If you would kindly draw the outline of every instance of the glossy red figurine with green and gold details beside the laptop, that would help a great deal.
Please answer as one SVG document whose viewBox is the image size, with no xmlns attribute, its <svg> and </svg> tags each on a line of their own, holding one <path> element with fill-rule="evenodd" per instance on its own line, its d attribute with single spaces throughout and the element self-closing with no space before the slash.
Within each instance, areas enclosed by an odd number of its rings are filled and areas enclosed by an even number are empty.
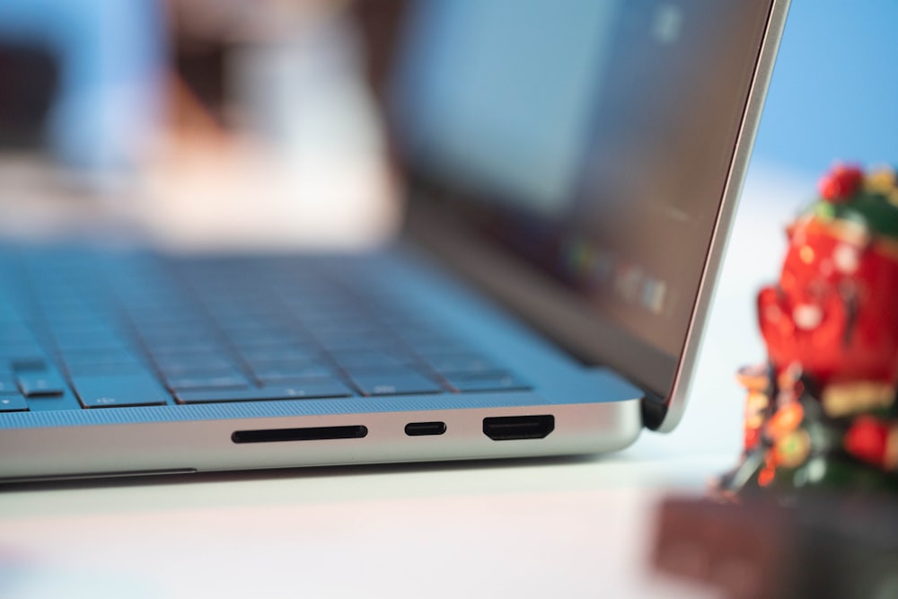
<svg viewBox="0 0 898 599">
<path fill-rule="evenodd" d="M 898 490 L 898 187 L 890 168 L 838 165 L 788 227 L 776 285 L 758 295 L 769 363 L 744 368 L 742 462 L 753 487 Z"/>
</svg>

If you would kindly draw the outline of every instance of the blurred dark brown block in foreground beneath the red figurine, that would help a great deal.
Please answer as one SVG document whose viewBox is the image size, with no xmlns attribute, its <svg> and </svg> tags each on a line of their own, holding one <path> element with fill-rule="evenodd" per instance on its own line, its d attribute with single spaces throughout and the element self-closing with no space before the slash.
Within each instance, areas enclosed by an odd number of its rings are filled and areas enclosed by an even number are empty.
<svg viewBox="0 0 898 599">
<path fill-rule="evenodd" d="M 730 599 L 898 597 L 898 500 L 800 495 L 788 505 L 667 498 L 653 567 Z"/>
</svg>

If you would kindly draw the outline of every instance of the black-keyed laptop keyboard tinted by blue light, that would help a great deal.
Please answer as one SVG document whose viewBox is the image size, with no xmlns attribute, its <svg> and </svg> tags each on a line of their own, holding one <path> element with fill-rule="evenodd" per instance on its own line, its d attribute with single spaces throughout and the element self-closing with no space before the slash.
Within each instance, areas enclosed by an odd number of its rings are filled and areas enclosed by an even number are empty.
<svg viewBox="0 0 898 599">
<path fill-rule="evenodd" d="M 373 260 L 5 259 L 0 411 L 528 388 L 379 282 Z"/>
</svg>

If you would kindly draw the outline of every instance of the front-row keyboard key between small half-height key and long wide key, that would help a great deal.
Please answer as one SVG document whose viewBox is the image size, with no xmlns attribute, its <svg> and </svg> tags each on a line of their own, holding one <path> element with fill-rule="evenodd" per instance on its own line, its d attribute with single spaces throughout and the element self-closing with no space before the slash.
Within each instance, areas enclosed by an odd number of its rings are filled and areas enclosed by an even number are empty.
<svg viewBox="0 0 898 599">
<path fill-rule="evenodd" d="M 75 393 L 85 408 L 153 406 L 171 397 L 150 374 L 74 376 Z"/>
</svg>

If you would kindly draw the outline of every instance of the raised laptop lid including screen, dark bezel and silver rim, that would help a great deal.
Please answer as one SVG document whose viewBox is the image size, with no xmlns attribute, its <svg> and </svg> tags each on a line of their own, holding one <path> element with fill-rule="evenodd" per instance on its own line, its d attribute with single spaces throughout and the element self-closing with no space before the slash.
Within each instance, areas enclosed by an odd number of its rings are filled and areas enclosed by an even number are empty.
<svg viewBox="0 0 898 599">
<path fill-rule="evenodd" d="M 409 234 L 682 416 L 786 3 L 409 10 L 391 112 Z M 462 43 L 463 42 L 463 43 Z"/>
</svg>

